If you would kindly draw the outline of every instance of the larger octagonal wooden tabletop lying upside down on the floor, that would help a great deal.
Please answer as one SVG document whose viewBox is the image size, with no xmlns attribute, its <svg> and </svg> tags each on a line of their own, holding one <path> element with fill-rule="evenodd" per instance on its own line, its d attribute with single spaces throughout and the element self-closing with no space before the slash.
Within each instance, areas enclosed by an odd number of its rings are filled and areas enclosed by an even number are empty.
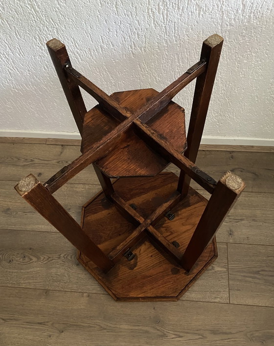
<svg viewBox="0 0 274 346">
<path fill-rule="evenodd" d="M 147 218 L 177 188 L 178 177 L 160 173 L 155 177 L 120 178 L 114 183 L 115 192 L 136 211 Z M 188 195 L 172 212 L 173 220 L 163 217 L 154 228 L 170 242 L 179 243 L 183 253 L 206 207 L 207 200 L 190 188 Z M 109 254 L 126 239 L 137 225 L 129 222 L 106 199 L 101 191 L 82 211 L 82 225 L 91 239 Z M 217 258 L 215 238 L 207 246 L 194 268 L 187 273 L 145 236 L 131 248 L 135 257 L 122 257 L 107 274 L 78 252 L 79 262 L 115 300 L 178 300 Z"/>
</svg>

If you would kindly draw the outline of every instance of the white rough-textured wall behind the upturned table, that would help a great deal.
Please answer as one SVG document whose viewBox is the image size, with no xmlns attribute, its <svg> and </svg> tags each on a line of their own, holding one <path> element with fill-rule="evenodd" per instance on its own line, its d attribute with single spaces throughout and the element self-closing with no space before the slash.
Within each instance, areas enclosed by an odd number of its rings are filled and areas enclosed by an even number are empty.
<svg viewBox="0 0 274 346">
<path fill-rule="evenodd" d="M 77 131 L 46 50 L 53 37 L 111 93 L 160 91 L 218 33 L 225 42 L 204 134 L 274 137 L 273 0 L 1 0 L 0 33 L 0 130 Z M 175 98 L 187 117 L 193 86 Z"/>
</svg>

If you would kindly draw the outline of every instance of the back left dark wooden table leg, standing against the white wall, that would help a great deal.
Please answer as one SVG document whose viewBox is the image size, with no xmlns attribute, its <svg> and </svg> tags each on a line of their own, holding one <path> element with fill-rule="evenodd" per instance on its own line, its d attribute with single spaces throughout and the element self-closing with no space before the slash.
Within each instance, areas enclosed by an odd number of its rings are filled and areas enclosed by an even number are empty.
<svg viewBox="0 0 274 346">
<path fill-rule="evenodd" d="M 71 66 L 66 46 L 59 40 L 52 39 L 46 43 L 49 55 L 60 79 L 62 88 L 68 100 L 71 113 L 74 117 L 80 134 L 83 132 L 83 120 L 87 109 L 78 85 L 67 76 L 64 67 Z"/>
</svg>

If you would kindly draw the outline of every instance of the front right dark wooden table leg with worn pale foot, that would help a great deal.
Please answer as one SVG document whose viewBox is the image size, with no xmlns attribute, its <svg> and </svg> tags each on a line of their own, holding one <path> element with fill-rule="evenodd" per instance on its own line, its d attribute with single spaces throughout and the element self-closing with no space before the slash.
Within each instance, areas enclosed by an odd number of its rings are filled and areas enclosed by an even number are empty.
<svg viewBox="0 0 274 346">
<path fill-rule="evenodd" d="M 229 171 L 219 180 L 183 254 L 185 270 L 190 271 L 194 266 L 244 188 L 241 178 Z"/>
</svg>

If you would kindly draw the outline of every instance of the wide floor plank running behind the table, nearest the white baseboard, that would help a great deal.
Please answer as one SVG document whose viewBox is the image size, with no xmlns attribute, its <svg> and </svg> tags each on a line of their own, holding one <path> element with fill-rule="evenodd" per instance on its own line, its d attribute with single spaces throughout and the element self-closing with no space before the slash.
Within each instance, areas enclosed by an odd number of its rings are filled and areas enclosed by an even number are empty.
<svg viewBox="0 0 274 346">
<path fill-rule="evenodd" d="M 33 173 L 42 182 L 81 154 L 79 146 L 21 143 L 0 143 L 0 152 L 1 180 L 19 181 Z M 274 153 L 200 150 L 196 163 L 216 180 L 228 170 L 238 174 L 247 184 L 245 191 L 274 192 Z M 166 170 L 179 174 L 174 165 Z M 69 183 L 97 184 L 97 178 L 89 166 Z"/>
</svg>

